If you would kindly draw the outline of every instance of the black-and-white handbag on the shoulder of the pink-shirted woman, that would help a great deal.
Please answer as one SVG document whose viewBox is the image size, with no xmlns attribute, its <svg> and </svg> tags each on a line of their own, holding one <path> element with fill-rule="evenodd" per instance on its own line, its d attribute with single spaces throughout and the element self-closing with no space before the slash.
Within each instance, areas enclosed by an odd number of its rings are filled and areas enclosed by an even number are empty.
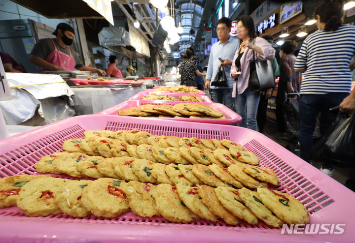
<svg viewBox="0 0 355 243">
<path fill-rule="evenodd" d="M 254 39 L 255 45 L 255 39 Z M 255 51 L 253 51 L 253 61 L 250 61 L 249 87 L 253 92 L 275 88 L 275 77 L 270 60 L 255 60 Z"/>
</svg>

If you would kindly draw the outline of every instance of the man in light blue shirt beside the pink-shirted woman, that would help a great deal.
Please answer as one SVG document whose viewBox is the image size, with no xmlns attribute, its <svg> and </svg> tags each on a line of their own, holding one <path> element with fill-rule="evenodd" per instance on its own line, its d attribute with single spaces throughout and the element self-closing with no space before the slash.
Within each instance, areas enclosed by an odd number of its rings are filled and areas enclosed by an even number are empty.
<svg viewBox="0 0 355 243">
<path fill-rule="evenodd" d="M 235 110 L 234 98 L 232 98 L 234 80 L 230 76 L 230 68 L 232 65 L 231 60 L 233 60 L 234 54 L 239 48 L 239 39 L 229 35 L 231 27 L 232 21 L 226 17 L 222 17 L 217 22 L 217 37 L 219 41 L 214 43 L 211 48 L 205 89 L 210 90 L 213 102 L 224 104 L 228 108 Z M 218 58 L 221 58 L 223 62 L 220 62 Z M 210 87 L 210 82 L 214 80 L 220 64 L 224 66 L 228 87 Z"/>
</svg>

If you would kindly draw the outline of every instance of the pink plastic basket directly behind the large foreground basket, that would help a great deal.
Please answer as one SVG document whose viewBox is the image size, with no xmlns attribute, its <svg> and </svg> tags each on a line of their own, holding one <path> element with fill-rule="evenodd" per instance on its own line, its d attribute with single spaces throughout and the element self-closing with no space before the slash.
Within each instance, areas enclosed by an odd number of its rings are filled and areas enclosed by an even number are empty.
<svg viewBox="0 0 355 243">
<path fill-rule="evenodd" d="M 176 105 L 178 103 L 191 103 L 187 101 L 170 101 L 170 100 L 129 100 L 124 101 L 118 105 L 112 106 L 104 111 L 97 114 L 104 115 L 118 115 L 118 110 L 129 109 L 132 107 L 138 107 L 141 105 Z M 200 102 L 210 106 L 212 109 L 220 111 L 226 119 L 205 119 L 205 118 L 150 118 L 150 119 L 162 119 L 162 120 L 174 120 L 174 121 L 184 121 L 184 122 L 200 122 L 200 123 L 215 123 L 215 124 L 236 124 L 242 122 L 242 117 L 237 113 L 229 109 L 223 104 L 213 103 L 213 102 Z"/>
</svg>

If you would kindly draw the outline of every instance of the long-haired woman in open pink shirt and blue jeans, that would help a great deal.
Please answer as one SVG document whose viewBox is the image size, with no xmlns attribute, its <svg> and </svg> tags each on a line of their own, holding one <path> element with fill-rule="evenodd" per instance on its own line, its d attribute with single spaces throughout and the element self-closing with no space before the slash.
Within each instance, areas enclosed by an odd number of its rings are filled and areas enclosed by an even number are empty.
<svg viewBox="0 0 355 243">
<path fill-rule="evenodd" d="M 232 97 L 235 97 L 236 111 L 242 116 L 240 126 L 256 130 L 256 112 L 260 99 L 260 91 L 252 92 L 249 88 L 250 61 L 271 60 L 275 57 L 275 49 L 269 42 L 256 36 L 254 22 L 248 15 L 242 15 L 237 19 L 238 37 L 240 48 L 235 52 L 231 77 L 235 80 Z M 239 75 L 237 71 L 242 73 Z"/>
</svg>

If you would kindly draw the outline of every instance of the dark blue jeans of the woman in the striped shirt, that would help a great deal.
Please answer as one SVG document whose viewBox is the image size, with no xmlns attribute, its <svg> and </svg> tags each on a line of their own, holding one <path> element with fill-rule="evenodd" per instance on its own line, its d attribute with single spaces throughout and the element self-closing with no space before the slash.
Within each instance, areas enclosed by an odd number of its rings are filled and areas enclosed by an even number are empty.
<svg viewBox="0 0 355 243">
<path fill-rule="evenodd" d="M 300 143 L 301 158 L 310 162 L 310 153 L 313 147 L 313 132 L 318 114 L 320 117 L 320 134 L 324 135 L 336 118 L 337 112 L 329 111 L 338 106 L 349 93 L 301 94 L 299 101 Z"/>
</svg>

